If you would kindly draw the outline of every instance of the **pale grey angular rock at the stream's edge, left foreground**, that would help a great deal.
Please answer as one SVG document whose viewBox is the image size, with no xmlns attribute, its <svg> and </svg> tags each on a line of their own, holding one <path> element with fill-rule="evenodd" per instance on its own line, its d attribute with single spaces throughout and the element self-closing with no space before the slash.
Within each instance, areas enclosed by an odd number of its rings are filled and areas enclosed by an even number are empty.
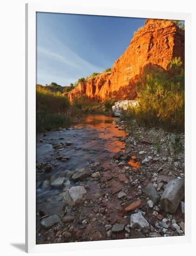
<svg viewBox="0 0 196 256">
<path fill-rule="evenodd" d="M 83 186 L 72 187 L 65 192 L 63 201 L 65 204 L 74 205 L 82 202 L 85 194 L 86 190 Z"/>
</svg>

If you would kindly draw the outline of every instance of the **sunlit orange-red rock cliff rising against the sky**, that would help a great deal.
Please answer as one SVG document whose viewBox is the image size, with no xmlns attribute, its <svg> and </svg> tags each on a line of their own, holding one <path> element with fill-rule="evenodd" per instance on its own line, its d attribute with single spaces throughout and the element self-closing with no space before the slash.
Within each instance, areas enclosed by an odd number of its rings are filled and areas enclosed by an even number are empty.
<svg viewBox="0 0 196 256">
<path fill-rule="evenodd" d="M 90 101 L 104 101 L 110 97 L 133 100 L 144 68 L 150 65 L 166 70 L 174 57 L 181 57 L 184 63 L 184 31 L 170 20 L 146 20 L 124 54 L 115 61 L 111 72 L 79 83 L 68 97 L 70 101 L 82 95 Z"/>
</svg>

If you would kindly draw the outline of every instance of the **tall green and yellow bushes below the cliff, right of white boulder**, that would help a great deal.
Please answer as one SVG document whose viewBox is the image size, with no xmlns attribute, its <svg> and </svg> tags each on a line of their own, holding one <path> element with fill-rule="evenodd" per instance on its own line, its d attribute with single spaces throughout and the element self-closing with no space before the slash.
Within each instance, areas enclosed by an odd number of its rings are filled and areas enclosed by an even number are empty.
<svg viewBox="0 0 196 256">
<path fill-rule="evenodd" d="M 124 112 L 125 120 L 138 125 L 184 131 L 184 69 L 180 58 L 168 63 L 168 71 L 150 67 L 137 85 L 137 106 Z"/>
</svg>

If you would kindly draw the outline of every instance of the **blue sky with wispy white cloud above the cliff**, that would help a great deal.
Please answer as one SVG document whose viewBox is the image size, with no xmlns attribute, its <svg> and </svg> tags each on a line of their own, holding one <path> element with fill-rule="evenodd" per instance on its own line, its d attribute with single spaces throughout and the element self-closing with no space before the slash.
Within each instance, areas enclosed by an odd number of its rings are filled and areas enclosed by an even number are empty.
<svg viewBox="0 0 196 256">
<path fill-rule="evenodd" d="M 37 13 L 37 84 L 62 86 L 112 67 L 146 19 Z"/>
</svg>

